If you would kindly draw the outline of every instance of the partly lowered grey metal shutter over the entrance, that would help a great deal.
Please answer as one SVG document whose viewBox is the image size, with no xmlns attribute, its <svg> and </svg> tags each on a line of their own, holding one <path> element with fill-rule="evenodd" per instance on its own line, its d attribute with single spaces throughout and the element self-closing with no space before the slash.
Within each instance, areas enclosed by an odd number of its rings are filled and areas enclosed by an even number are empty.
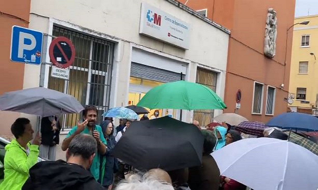
<svg viewBox="0 0 318 190">
<path fill-rule="evenodd" d="M 174 82 L 181 79 L 181 73 L 175 73 L 172 71 L 167 71 L 159 69 L 152 66 L 142 65 L 139 63 L 132 62 L 130 68 L 130 76 L 137 77 L 141 79 L 155 80 L 159 82 Z M 184 80 L 185 74 L 182 74 L 182 79 Z"/>
</svg>

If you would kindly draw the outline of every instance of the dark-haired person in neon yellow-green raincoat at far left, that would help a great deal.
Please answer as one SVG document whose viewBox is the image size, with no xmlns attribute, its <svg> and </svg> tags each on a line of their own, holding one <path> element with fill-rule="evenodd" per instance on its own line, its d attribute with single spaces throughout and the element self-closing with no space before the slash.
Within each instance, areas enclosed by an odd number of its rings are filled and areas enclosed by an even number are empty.
<svg viewBox="0 0 318 190">
<path fill-rule="evenodd" d="M 21 190 L 29 177 L 29 169 L 38 162 L 41 137 L 37 132 L 33 139 L 34 130 L 27 118 L 17 118 L 11 125 L 11 132 L 16 139 L 5 146 L 4 180 L 0 189 Z"/>
</svg>

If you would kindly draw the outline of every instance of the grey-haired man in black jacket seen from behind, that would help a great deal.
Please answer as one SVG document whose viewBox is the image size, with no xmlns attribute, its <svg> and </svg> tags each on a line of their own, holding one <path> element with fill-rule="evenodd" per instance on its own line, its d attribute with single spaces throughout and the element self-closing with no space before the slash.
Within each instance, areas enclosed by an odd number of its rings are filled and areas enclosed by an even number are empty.
<svg viewBox="0 0 318 190">
<path fill-rule="evenodd" d="M 66 162 L 37 163 L 30 169 L 30 177 L 22 190 L 105 190 L 89 172 L 95 152 L 97 143 L 93 136 L 76 135 L 66 150 Z"/>
</svg>

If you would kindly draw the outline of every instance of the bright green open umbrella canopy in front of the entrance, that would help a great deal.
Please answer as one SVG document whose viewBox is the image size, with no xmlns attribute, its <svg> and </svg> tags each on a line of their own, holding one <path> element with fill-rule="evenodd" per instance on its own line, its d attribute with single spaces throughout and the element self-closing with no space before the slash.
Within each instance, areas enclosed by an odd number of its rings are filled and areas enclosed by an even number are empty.
<svg viewBox="0 0 318 190">
<path fill-rule="evenodd" d="M 138 106 L 149 109 L 224 109 L 226 105 L 210 88 L 197 83 L 176 81 L 152 88 Z"/>
</svg>

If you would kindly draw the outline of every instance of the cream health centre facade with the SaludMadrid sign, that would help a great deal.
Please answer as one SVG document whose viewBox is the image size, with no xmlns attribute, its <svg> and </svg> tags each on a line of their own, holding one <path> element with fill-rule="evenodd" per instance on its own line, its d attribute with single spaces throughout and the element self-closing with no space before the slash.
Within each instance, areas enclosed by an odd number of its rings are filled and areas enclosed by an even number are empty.
<svg viewBox="0 0 318 190">
<path fill-rule="evenodd" d="M 44 86 L 71 94 L 82 105 L 95 105 L 99 121 L 109 108 L 136 105 L 152 87 L 181 78 L 207 85 L 224 98 L 230 31 L 177 1 L 32 0 L 29 28 L 45 33 L 46 64 L 24 66 L 23 88 Z M 51 76 L 48 48 L 58 36 L 75 47 L 69 79 Z M 183 111 L 182 118 L 208 124 L 220 113 Z M 160 110 L 160 115 L 179 118 L 180 111 Z M 81 116 L 59 118 L 71 128 Z"/>
</svg>

